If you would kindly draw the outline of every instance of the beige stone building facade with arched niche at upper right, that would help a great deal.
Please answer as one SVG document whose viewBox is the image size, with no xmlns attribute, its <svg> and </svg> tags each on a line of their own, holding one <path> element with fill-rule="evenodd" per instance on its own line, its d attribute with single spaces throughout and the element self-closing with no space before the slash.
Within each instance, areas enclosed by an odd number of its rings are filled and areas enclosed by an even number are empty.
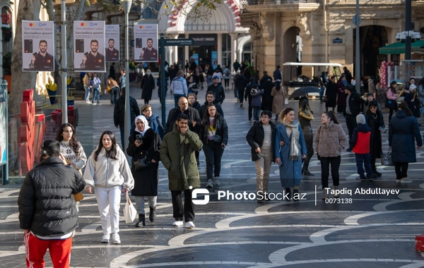
<svg viewBox="0 0 424 268">
<path fill-rule="evenodd" d="M 249 28 L 257 69 L 270 72 L 285 62 L 331 62 L 353 73 L 355 4 L 356 0 L 242 0 L 241 25 Z M 403 54 L 379 54 L 378 49 L 396 42 L 396 33 L 405 29 L 405 9 L 404 0 L 360 0 L 361 76 L 377 75 L 382 61 L 403 59 Z M 424 29 L 423 0 L 412 2 L 412 22 L 413 30 Z M 283 73 L 296 73 L 290 68 L 295 67 L 284 67 Z M 310 72 L 305 69 L 302 74 Z"/>
</svg>

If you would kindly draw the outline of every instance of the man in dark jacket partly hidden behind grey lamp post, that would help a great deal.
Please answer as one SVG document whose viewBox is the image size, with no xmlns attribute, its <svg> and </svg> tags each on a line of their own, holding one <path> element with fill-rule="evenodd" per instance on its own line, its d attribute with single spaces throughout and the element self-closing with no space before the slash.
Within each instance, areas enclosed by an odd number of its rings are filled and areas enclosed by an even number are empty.
<svg viewBox="0 0 424 268">
<path fill-rule="evenodd" d="M 113 121 L 116 128 L 119 127 L 119 131 L 121 132 L 121 142 L 122 142 L 122 150 L 126 150 L 124 145 L 124 140 L 129 137 L 124 137 L 124 123 L 125 123 L 125 87 L 122 87 L 121 97 L 117 99 L 115 102 L 114 110 L 113 110 Z M 136 99 L 129 96 L 129 113 L 131 114 L 131 129 L 130 135 L 136 128 L 134 121 L 136 117 L 140 115 L 139 105 L 137 104 Z"/>
</svg>

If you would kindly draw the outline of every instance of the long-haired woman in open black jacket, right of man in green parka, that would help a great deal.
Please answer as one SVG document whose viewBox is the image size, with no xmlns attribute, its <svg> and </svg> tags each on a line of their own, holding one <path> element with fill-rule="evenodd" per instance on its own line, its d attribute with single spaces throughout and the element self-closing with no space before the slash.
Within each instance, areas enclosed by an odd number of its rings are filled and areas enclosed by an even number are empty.
<svg viewBox="0 0 424 268">
<path fill-rule="evenodd" d="M 201 121 L 200 135 L 206 158 L 206 188 L 220 185 L 220 163 L 228 142 L 228 126 L 225 119 L 216 111 L 215 104 L 208 104 Z M 213 177 L 215 175 L 215 177 Z"/>
</svg>

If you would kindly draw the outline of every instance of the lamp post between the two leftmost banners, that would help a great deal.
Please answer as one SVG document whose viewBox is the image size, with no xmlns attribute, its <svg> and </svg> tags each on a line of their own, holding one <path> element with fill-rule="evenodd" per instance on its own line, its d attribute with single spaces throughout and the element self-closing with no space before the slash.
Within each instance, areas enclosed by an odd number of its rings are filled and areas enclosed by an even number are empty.
<svg viewBox="0 0 424 268">
<path fill-rule="evenodd" d="M 68 123 L 68 90 L 66 80 L 68 74 L 66 73 L 66 0 L 61 0 L 61 43 L 62 43 L 62 123 Z"/>
</svg>

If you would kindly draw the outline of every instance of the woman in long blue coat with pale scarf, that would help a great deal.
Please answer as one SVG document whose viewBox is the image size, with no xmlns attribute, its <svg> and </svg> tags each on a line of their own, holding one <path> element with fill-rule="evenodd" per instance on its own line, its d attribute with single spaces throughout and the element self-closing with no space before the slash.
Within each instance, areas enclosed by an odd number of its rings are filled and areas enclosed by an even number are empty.
<svg viewBox="0 0 424 268">
<path fill-rule="evenodd" d="M 295 111 L 286 108 L 280 114 L 281 125 L 277 127 L 274 152 L 276 163 L 280 166 L 281 186 L 285 188 L 287 200 L 299 200 L 300 177 L 302 176 L 302 159 L 306 158 L 306 144 L 302 127 L 295 121 Z"/>
</svg>

